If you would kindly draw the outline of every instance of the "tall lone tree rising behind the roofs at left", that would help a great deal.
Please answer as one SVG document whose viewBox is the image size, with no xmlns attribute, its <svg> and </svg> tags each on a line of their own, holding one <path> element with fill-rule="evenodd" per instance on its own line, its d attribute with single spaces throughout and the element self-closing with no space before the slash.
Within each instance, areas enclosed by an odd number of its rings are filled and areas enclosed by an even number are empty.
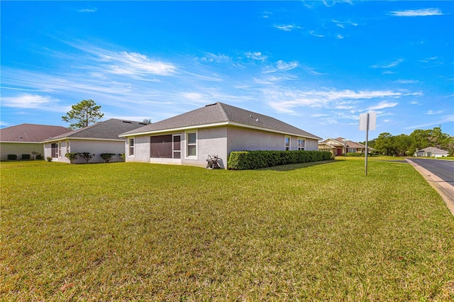
<svg viewBox="0 0 454 302">
<path fill-rule="evenodd" d="M 78 129 L 87 127 L 91 123 L 96 123 L 103 118 L 104 113 L 101 113 L 101 106 L 96 105 L 93 100 L 82 100 L 80 103 L 72 105 L 71 111 L 62 116 L 62 121 L 72 123 L 70 129 Z"/>
</svg>

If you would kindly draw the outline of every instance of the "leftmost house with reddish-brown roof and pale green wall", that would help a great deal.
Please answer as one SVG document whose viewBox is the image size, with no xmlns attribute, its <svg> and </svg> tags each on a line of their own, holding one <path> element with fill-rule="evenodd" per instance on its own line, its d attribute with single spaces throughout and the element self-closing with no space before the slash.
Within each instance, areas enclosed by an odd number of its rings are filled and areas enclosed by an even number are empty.
<svg viewBox="0 0 454 302">
<path fill-rule="evenodd" d="M 33 159 L 38 153 L 43 155 L 43 140 L 68 131 L 62 126 L 28 123 L 0 129 L 0 160 L 7 160 L 10 154 L 18 160 Z"/>
</svg>

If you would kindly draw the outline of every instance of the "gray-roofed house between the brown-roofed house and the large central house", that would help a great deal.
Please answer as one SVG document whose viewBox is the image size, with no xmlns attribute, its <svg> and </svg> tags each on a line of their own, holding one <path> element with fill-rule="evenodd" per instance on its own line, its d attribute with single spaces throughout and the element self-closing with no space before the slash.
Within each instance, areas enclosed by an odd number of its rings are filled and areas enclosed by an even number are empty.
<svg viewBox="0 0 454 302">
<path fill-rule="evenodd" d="M 89 152 L 95 156 L 90 162 L 104 162 L 101 153 L 113 153 L 111 162 L 120 162 L 120 154 L 125 153 L 125 139 L 118 137 L 120 133 L 148 125 L 135 121 L 122 121 L 115 118 L 89 125 L 74 131 L 57 135 L 44 140 L 44 157 L 52 157 L 55 162 L 70 162 L 65 157 L 70 152 Z M 74 163 L 85 162 L 79 157 Z"/>
</svg>

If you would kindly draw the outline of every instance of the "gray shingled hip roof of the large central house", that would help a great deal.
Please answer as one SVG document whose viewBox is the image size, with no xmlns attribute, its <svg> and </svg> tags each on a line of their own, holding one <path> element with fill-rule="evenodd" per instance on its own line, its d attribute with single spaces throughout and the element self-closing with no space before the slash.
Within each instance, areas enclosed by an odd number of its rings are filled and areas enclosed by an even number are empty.
<svg viewBox="0 0 454 302">
<path fill-rule="evenodd" d="M 180 114 L 179 116 L 167 118 L 166 120 L 146 125 L 142 128 L 122 133 L 121 135 L 127 136 L 137 133 L 153 133 L 162 130 L 172 130 L 187 127 L 196 128 L 204 125 L 218 123 L 240 124 L 244 125 L 245 127 L 262 128 L 263 130 L 267 131 L 278 131 L 287 134 L 299 135 L 304 138 L 321 140 L 321 138 L 316 135 L 279 121 L 276 118 L 264 116 L 260 113 L 247 111 L 223 103 L 206 105 L 194 111 L 189 111 L 187 113 Z"/>
</svg>

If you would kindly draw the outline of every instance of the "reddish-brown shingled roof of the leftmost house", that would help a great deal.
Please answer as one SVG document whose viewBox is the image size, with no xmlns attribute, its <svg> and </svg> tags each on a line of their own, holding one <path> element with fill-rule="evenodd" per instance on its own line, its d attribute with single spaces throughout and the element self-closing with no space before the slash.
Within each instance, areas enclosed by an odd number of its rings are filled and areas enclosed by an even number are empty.
<svg viewBox="0 0 454 302">
<path fill-rule="evenodd" d="M 67 133 L 70 129 L 54 125 L 24 123 L 0 129 L 1 142 L 41 142 L 52 136 Z"/>
</svg>

